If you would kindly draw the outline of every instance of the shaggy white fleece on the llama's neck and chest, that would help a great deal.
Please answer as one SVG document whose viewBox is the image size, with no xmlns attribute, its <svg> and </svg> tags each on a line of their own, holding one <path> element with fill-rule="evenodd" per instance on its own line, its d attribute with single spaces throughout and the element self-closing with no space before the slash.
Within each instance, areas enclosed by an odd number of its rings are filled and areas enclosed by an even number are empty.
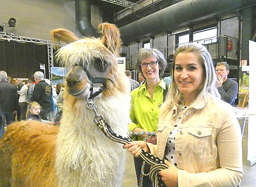
<svg viewBox="0 0 256 187">
<path fill-rule="evenodd" d="M 128 92 L 129 93 L 129 92 Z M 118 93 L 94 103 L 115 133 L 128 136 L 130 96 Z M 120 187 L 124 172 L 125 151 L 109 140 L 94 123 L 94 111 L 85 100 L 75 106 L 64 103 L 63 121 L 57 138 L 56 167 L 59 186 Z"/>
</svg>

